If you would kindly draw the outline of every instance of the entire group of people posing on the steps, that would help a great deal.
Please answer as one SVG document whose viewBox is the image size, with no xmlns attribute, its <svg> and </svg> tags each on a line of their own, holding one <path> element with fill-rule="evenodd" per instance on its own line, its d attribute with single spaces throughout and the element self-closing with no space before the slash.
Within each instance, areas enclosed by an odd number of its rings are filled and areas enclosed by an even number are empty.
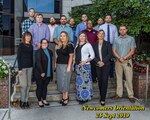
<svg viewBox="0 0 150 120">
<path fill-rule="evenodd" d="M 50 24 L 43 23 L 43 15 L 34 8 L 29 9 L 29 18 L 22 23 L 22 42 L 18 47 L 17 59 L 21 86 L 20 107 L 29 107 L 31 81 L 35 81 L 38 105 L 49 105 L 46 100 L 47 85 L 53 80 L 56 71 L 57 89 L 62 93 L 60 104 L 69 102 L 69 89 L 72 71 L 76 73 L 76 99 L 84 104 L 93 97 L 93 85 L 97 83 L 100 91 L 100 104 L 105 105 L 108 78 L 116 73 L 117 90 L 113 99 L 123 94 L 123 72 L 129 100 L 134 103 L 133 71 L 131 56 L 136 44 L 133 37 L 127 35 L 127 26 L 119 30 L 106 15 L 105 23 L 99 18 L 98 25 L 87 15 L 82 15 L 82 22 L 75 27 L 73 18 L 67 24 L 66 16 L 60 17 L 60 25 L 54 17 Z M 118 31 L 120 35 L 118 36 Z M 116 61 L 114 61 L 116 58 Z"/>
</svg>

